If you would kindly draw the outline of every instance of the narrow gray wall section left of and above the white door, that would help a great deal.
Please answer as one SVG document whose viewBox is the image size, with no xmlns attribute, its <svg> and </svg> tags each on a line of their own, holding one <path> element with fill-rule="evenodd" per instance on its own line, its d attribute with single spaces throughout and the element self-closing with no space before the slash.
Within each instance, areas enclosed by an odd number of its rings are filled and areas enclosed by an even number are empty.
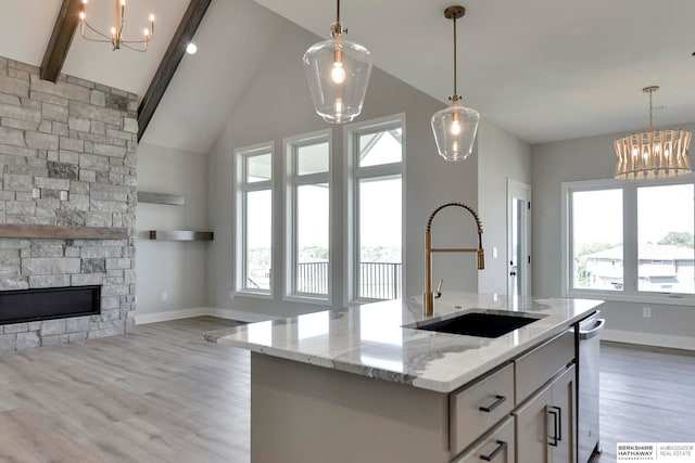
<svg viewBox="0 0 695 463">
<path fill-rule="evenodd" d="M 531 146 L 483 119 L 478 131 L 478 204 L 485 248 L 485 269 L 478 275 L 478 292 L 507 294 L 507 179 L 531 184 Z M 497 258 L 492 257 L 493 247 L 497 248 Z"/>
</svg>

